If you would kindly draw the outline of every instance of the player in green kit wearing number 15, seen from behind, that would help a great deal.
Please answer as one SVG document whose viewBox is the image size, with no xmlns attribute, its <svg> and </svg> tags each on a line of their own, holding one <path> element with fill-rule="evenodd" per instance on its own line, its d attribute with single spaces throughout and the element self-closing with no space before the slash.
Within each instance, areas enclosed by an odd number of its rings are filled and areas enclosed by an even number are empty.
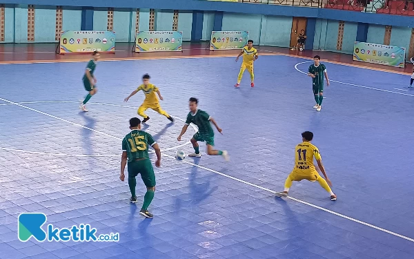
<svg viewBox="0 0 414 259">
<path fill-rule="evenodd" d="M 148 206 L 150 206 L 154 198 L 155 174 L 148 156 L 148 147 L 152 146 L 155 149 L 155 154 L 157 155 L 155 166 L 157 167 L 161 166 L 161 151 L 152 136 L 145 131 L 141 131 L 140 119 L 130 119 L 130 129 L 131 132 L 122 140 L 121 175 L 119 175 L 119 179 L 124 182 L 124 170 L 128 161 L 128 185 L 131 191 L 130 201 L 132 203 L 137 202 L 137 196 L 135 195 L 137 180 L 135 177 L 140 174 L 147 191 L 144 196 L 144 204 L 139 214 L 146 218 L 152 218 L 152 214 L 148 212 Z"/>
</svg>

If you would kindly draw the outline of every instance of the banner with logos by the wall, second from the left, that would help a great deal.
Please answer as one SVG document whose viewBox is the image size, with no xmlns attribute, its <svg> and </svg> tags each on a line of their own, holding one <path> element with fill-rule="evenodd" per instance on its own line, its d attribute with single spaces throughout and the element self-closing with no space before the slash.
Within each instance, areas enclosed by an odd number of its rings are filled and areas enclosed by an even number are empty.
<svg viewBox="0 0 414 259">
<path fill-rule="evenodd" d="M 135 39 L 135 52 L 181 51 L 183 32 L 139 31 Z"/>
</svg>

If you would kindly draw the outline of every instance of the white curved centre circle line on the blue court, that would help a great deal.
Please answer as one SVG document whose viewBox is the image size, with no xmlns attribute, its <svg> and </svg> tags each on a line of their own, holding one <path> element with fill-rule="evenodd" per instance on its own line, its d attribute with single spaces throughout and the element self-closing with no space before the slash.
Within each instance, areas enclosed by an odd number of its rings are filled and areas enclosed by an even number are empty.
<svg viewBox="0 0 414 259">
<path fill-rule="evenodd" d="M 34 102 L 17 102 L 14 105 L 16 105 L 16 104 L 79 104 L 79 102 L 73 102 L 73 101 L 34 101 Z M 116 107 L 137 109 L 137 107 L 128 106 L 128 105 L 121 105 L 121 104 L 104 104 L 104 103 L 100 103 L 100 102 L 90 102 L 89 104 L 97 104 L 97 105 L 102 105 L 102 106 L 116 106 Z M 12 103 L 0 104 L 0 106 L 6 106 L 6 105 L 13 105 L 13 104 Z M 30 108 L 30 107 L 28 107 L 28 108 Z M 41 111 L 39 111 L 39 112 L 41 112 Z M 186 122 L 184 119 L 181 119 L 179 117 L 175 117 L 175 116 L 171 116 L 171 117 L 173 117 L 175 119 L 178 119 L 181 122 Z M 68 122 L 70 122 L 70 121 L 68 121 Z M 70 123 L 71 124 L 74 124 L 73 122 L 70 122 Z M 83 128 L 85 128 L 85 126 L 83 126 L 83 125 L 81 125 L 81 126 Z M 194 126 L 193 124 L 191 124 L 191 127 L 193 128 L 193 130 L 195 131 L 195 133 L 198 132 L 198 128 L 196 126 Z M 90 128 L 87 128 L 87 129 L 88 130 L 91 130 Z M 98 131 L 98 133 L 101 133 L 101 132 Z M 187 146 L 189 144 L 191 144 L 190 141 L 185 142 L 184 144 L 180 144 L 178 146 L 172 146 L 170 148 L 161 149 L 161 152 L 171 151 L 171 150 L 174 150 L 174 149 L 177 149 L 177 148 L 181 148 L 183 146 Z M 115 156 L 120 156 L 121 155 L 121 154 L 117 154 L 117 155 L 115 155 L 115 154 L 113 154 L 113 155 L 86 155 L 86 154 L 71 155 L 71 154 L 64 154 L 64 153 L 44 153 L 44 152 L 37 152 L 37 151 L 25 151 L 25 150 L 14 149 L 14 148 L 4 148 L 4 147 L 1 147 L 1 146 L 0 146 L 0 149 L 5 150 L 5 151 L 12 151 L 12 152 L 30 153 L 30 154 L 34 154 L 34 155 L 55 155 L 55 156 L 67 156 L 67 157 L 112 157 L 112 156 L 115 157 Z M 148 152 L 149 153 L 155 153 L 155 151 L 152 151 L 152 150 L 150 150 Z"/>
</svg>

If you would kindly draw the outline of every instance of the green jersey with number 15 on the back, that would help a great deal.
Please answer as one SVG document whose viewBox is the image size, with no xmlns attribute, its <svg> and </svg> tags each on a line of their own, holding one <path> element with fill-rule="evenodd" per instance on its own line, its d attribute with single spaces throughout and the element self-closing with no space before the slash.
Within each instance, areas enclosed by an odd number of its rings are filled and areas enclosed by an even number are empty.
<svg viewBox="0 0 414 259">
<path fill-rule="evenodd" d="M 122 151 L 125 151 L 128 155 L 128 162 L 133 162 L 139 158 L 149 158 L 148 147 L 155 143 L 157 142 L 150 133 L 132 130 L 122 140 Z"/>
</svg>

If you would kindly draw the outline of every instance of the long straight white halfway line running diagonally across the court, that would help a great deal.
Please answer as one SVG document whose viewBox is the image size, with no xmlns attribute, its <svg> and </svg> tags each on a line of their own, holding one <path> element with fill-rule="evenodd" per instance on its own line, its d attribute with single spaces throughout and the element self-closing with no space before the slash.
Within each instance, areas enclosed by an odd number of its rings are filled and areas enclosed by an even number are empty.
<svg viewBox="0 0 414 259">
<path fill-rule="evenodd" d="M 88 130 L 90 130 L 90 131 L 94 131 L 94 132 L 96 132 L 96 133 L 101 133 L 102 135 L 106 135 L 106 136 L 108 136 L 108 137 L 112 137 L 112 138 L 115 138 L 115 139 L 117 139 L 117 140 L 121 140 L 121 138 L 119 138 L 119 137 L 115 137 L 115 136 L 112 136 L 112 135 L 109 135 L 108 133 L 103 133 L 103 132 L 101 132 L 101 131 L 97 131 L 97 130 L 95 130 L 95 129 L 93 129 L 93 128 L 88 128 L 88 127 L 83 126 L 83 125 L 81 125 L 81 124 L 76 124 L 76 123 L 70 122 L 70 121 L 68 121 L 68 120 L 66 120 L 66 119 L 62 119 L 61 117 L 56 117 L 56 116 L 54 116 L 54 115 L 50 115 L 50 114 L 48 114 L 48 113 L 43 113 L 42 111 L 38 111 L 38 110 L 33 109 L 33 108 L 30 108 L 30 107 L 28 107 L 28 106 L 24 106 L 24 105 L 22 105 L 22 104 L 18 104 L 18 103 L 15 103 L 15 102 L 9 101 L 8 99 L 3 99 L 3 98 L 1 98 L 1 97 L 0 97 L 0 100 L 1 100 L 1 101 L 3 101 L 3 102 L 8 102 L 9 104 L 14 104 L 14 105 L 19 106 L 19 107 L 21 107 L 21 108 L 26 108 L 26 109 L 28 109 L 28 110 L 30 110 L 30 111 L 34 111 L 34 112 L 36 112 L 36 113 L 40 113 L 40 114 L 46 115 L 46 116 L 48 116 L 48 117 L 52 117 L 52 118 L 55 118 L 55 119 L 59 119 L 59 120 L 61 120 L 62 122 L 68 122 L 68 123 L 70 123 L 70 124 L 72 124 L 72 125 L 75 125 L 75 126 L 80 126 L 80 127 L 82 127 L 82 128 L 86 128 L 86 129 L 88 129 Z M 175 157 L 173 157 L 172 155 L 167 155 L 167 154 L 165 154 L 165 153 L 164 153 L 163 155 L 164 155 L 164 156 L 166 156 L 166 157 L 170 157 L 170 158 L 172 158 L 172 159 L 175 159 Z M 242 183 L 244 183 L 244 184 L 248 184 L 248 185 L 250 185 L 250 186 L 256 187 L 257 189 L 262 189 L 263 191 L 268 191 L 268 192 L 273 193 L 273 194 L 277 193 L 276 191 L 273 191 L 273 190 L 270 190 L 270 189 L 264 188 L 264 187 L 259 186 L 259 185 L 257 185 L 257 184 L 252 184 L 251 182 L 246 182 L 246 181 L 241 180 L 241 179 L 239 179 L 239 178 L 235 178 L 235 177 L 233 177 L 233 176 L 226 175 L 225 173 L 221 173 L 221 172 L 219 172 L 219 171 L 215 171 L 215 170 L 213 170 L 213 169 L 209 169 L 209 168 L 207 168 L 207 167 L 200 166 L 200 165 L 198 165 L 198 164 L 194 164 L 194 163 L 192 163 L 192 162 L 188 162 L 188 161 L 186 161 L 186 160 L 182 160 L 181 162 L 184 162 L 184 163 L 186 163 L 186 164 L 190 164 L 191 166 L 197 166 L 199 169 L 204 169 L 204 170 L 209 171 L 209 172 L 211 172 L 211 173 L 216 173 L 217 175 L 221 175 L 221 176 L 224 176 L 224 177 L 226 177 L 226 178 L 230 178 L 230 179 L 235 180 L 235 181 L 237 181 L 237 182 L 242 182 Z M 305 201 L 303 201 L 303 200 L 299 200 L 299 199 L 296 199 L 296 198 L 293 198 L 293 197 L 290 197 L 290 196 L 288 196 L 287 198 L 288 198 L 288 199 L 290 199 L 290 200 L 294 200 L 295 202 L 299 202 L 299 203 L 302 203 L 302 204 L 306 204 L 306 205 L 308 205 L 308 206 L 310 206 L 310 207 L 313 207 L 313 208 L 315 208 L 315 209 L 320 209 L 320 210 L 322 210 L 322 211 L 326 211 L 326 212 L 331 213 L 331 214 L 333 214 L 333 215 L 337 215 L 337 216 L 339 216 L 339 217 L 341 217 L 341 218 L 345 218 L 345 219 L 347 219 L 347 220 L 351 220 L 351 221 L 353 221 L 353 222 L 357 222 L 357 223 L 359 223 L 359 224 L 363 224 L 363 225 L 364 225 L 364 226 L 366 226 L 366 227 L 371 227 L 371 228 L 373 228 L 373 229 L 377 229 L 377 230 L 383 231 L 383 232 L 388 233 L 388 234 L 391 234 L 391 235 L 393 235 L 393 236 L 397 236 L 397 237 L 399 237 L 399 238 L 403 238 L 403 239 L 405 239 L 405 240 L 408 240 L 408 241 L 414 242 L 414 239 L 413 239 L 413 238 L 408 238 L 408 237 L 406 237 L 406 236 L 402 236 L 402 235 L 400 235 L 399 233 L 395 233 L 395 232 L 393 232 L 393 231 L 389 231 L 389 230 L 387 230 L 387 229 L 382 229 L 381 227 L 377 227 L 377 226 L 375 226 L 375 225 L 373 225 L 373 224 L 369 224 L 369 223 L 367 223 L 367 222 L 363 222 L 363 221 L 361 221 L 361 220 L 357 220 L 357 219 L 355 219 L 355 218 L 348 217 L 347 215 L 343 215 L 343 214 L 341 214 L 341 213 L 337 213 L 337 212 L 335 212 L 335 211 L 331 211 L 331 210 L 329 210 L 329 209 L 325 209 L 324 207 L 319 207 L 319 206 L 317 206 L 317 205 L 315 205 L 315 204 L 312 204 L 312 203 L 309 203 L 309 202 L 305 202 Z"/>
</svg>

